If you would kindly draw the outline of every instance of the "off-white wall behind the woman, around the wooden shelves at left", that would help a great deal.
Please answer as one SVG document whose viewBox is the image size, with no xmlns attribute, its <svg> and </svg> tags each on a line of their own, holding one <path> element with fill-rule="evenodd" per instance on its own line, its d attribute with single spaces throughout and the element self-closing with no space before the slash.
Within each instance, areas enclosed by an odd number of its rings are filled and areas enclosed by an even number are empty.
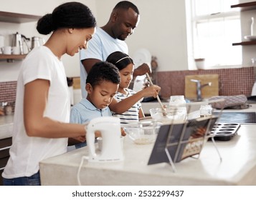
<svg viewBox="0 0 256 200">
<path fill-rule="evenodd" d="M 63 2 L 67 1 L 0 0 L 0 11 L 43 16 L 44 14 L 51 13 L 56 6 L 62 4 Z M 93 14 L 96 15 L 95 0 L 80 0 L 80 2 L 89 6 L 90 9 L 93 11 Z M 15 34 L 16 31 L 19 31 L 19 33 L 24 34 L 29 38 L 31 38 L 32 36 L 40 36 L 44 39 L 47 39 L 48 36 L 40 35 L 37 32 L 36 24 L 37 21 L 23 24 L 5 23 L 0 21 L 0 34 L 6 36 L 6 45 L 11 45 L 11 34 Z M 67 76 L 79 76 L 79 55 L 76 54 L 72 57 L 65 55 L 62 59 L 65 63 Z M 19 66 L 21 62 L 22 61 L 14 61 L 14 63 L 7 63 L 6 60 L 0 60 L 0 82 L 16 81 L 19 74 Z"/>
</svg>

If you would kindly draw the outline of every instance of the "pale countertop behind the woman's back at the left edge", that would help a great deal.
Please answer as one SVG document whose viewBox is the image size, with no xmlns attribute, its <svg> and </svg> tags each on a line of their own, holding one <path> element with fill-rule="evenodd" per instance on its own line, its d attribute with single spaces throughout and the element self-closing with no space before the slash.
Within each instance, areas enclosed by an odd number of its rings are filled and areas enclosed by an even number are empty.
<svg viewBox="0 0 256 200">
<path fill-rule="evenodd" d="M 0 139 L 11 137 L 14 114 L 0 116 Z"/>
</svg>

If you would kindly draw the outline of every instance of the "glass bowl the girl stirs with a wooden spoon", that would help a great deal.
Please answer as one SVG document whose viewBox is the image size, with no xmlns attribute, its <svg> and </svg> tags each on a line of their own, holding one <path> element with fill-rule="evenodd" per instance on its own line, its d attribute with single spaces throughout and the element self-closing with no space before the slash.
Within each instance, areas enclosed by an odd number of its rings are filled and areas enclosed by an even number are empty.
<svg viewBox="0 0 256 200">
<path fill-rule="evenodd" d="M 149 109 L 152 119 L 159 121 L 163 124 L 178 124 L 186 121 L 186 108 L 185 107 L 167 107 L 164 110 L 161 108 Z"/>
</svg>

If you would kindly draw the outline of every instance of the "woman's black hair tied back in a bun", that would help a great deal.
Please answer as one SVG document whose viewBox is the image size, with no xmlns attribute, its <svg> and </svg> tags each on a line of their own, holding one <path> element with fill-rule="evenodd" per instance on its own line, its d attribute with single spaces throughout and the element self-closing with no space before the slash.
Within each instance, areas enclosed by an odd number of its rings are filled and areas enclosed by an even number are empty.
<svg viewBox="0 0 256 200">
<path fill-rule="evenodd" d="M 37 21 L 37 31 L 44 35 L 60 28 L 83 29 L 95 26 L 96 20 L 92 11 L 79 2 L 61 4 L 52 14 L 46 14 Z"/>
</svg>

